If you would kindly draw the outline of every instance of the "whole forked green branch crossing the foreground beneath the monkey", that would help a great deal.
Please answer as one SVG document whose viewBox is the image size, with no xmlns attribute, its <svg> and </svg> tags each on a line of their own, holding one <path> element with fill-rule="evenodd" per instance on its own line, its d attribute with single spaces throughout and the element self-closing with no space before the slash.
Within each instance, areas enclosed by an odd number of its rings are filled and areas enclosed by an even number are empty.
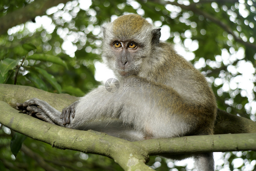
<svg viewBox="0 0 256 171">
<path fill-rule="evenodd" d="M 80 131 L 49 124 L 18 113 L 0 101 L 0 123 L 53 147 L 113 158 L 124 170 L 152 170 L 144 164 L 148 155 L 256 150 L 256 134 L 222 134 L 148 139 L 129 142 L 96 131 Z M 171 144 L 171 145 L 170 145 Z"/>
</svg>

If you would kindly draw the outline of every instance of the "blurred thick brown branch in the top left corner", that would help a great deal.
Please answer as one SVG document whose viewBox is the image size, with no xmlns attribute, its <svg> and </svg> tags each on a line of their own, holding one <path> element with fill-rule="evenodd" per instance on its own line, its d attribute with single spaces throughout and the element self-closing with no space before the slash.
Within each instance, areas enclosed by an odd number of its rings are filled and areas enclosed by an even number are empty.
<svg viewBox="0 0 256 171">
<path fill-rule="evenodd" d="M 7 13 L 0 18 L 0 34 L 4 34 L 13 26 L 25 23 L 34 19 L 36 16 L 42 16 L 50 7 L 57 6 L 60 3 L 66 3 L 70 0 L 36 0 L 13 12 Z"/>
</svg>

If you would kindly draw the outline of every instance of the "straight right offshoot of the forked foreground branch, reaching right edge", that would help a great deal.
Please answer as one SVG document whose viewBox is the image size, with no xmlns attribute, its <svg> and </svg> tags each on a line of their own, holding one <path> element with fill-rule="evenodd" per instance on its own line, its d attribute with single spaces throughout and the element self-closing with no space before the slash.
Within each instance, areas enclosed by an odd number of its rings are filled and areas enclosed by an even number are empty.
<svg viewBox="0 0 256 171">
<path fill-rule="evenodd" d="M 186 136 L 169 139 L 149 139 L 133 142 L 149 151 L 150 156 L 202 152 L 256 151 L 256 134 L 219 134 L 204 136 Z M 231 142 L 231 143 L 230 143 Z"/>
</svg>

